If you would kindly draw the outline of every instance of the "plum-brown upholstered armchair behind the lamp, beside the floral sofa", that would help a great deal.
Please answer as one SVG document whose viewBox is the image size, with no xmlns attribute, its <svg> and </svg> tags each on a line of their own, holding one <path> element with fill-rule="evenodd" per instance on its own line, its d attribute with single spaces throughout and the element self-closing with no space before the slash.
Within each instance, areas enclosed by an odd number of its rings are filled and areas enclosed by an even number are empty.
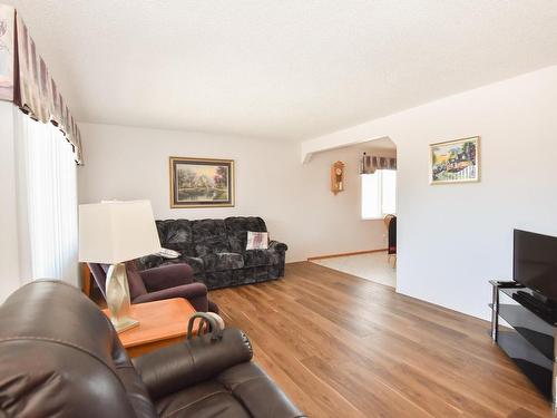
<svg viewBox="0 0 557 418">
<path fill-rule="evenodd" d="M 89 263 L 89 269 L 105 295 L 107 264 Z M 192 269 L 187 264 L 163 265 L 138 271 L 134 262 L 126 263 L 131 303 L 153 302 L 163 299 L 184 298 L 198 312 L 216 312 L 218 307 L 209 301 L 207 288 L 194 281 Z"/>
</svg>

